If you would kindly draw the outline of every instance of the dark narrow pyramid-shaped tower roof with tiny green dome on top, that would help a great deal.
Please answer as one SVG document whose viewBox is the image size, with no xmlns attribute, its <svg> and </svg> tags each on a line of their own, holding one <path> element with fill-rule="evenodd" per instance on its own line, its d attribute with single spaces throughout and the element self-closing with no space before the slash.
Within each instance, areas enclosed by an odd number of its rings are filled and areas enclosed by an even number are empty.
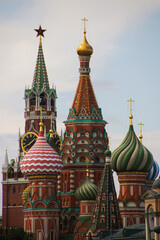
<svg viewBox="0 0 160 240">
<path fill-rule="evenodd" d="M 87 236 L 89 237 L 90 234 L 93 239 L 100 231 L 107 231 L 111 234 L 113 230 L 122 228 L 111 168 L 111 151 L 109 148 L 106 150 L 105 155 L 106 163 L 96 197 L 95 206 L 93 208 L 90 230 L 87 233 Z"/>
</svg>

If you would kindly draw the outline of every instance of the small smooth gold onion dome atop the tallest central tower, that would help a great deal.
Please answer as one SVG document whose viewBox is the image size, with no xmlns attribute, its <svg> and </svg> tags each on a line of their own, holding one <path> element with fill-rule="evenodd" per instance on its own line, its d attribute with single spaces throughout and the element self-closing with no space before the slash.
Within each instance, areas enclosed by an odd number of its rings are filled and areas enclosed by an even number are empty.
<svg viewBox="0 0 160 240">
<path fill-rule="evenodd" d="M 90 56 L 93 53 L 93 48 L 87 42 L 86 32 L 84 32 L 84 38 L 82 43 L 77 48 L 77 53 L 79 56 Z"/>
</svg>

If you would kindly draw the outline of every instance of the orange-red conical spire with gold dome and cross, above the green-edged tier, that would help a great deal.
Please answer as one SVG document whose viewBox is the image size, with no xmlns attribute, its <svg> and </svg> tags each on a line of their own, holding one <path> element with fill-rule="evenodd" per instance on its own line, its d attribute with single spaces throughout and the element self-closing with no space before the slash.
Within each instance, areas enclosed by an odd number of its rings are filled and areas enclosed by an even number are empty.
<svg viewBox="0 0 160 240">
<path fill-rule="evenodd" d="M 86 19 L 82 19 L 84 22 Z M 89 45 L 86 39 L 86 27 L 84 25 L 84 38 L 82 43 L 77 48 L 77 53 L 80 60 L 80 79 L 75 94 L 75 98 L 70 110 L 68 120 L 75 119 L 99 119 L 102 120 L 101 109 L 94 94 L 92 83 L 90 80 L 89 62 L 93 53 L 93 48 Z"/>
</svg>

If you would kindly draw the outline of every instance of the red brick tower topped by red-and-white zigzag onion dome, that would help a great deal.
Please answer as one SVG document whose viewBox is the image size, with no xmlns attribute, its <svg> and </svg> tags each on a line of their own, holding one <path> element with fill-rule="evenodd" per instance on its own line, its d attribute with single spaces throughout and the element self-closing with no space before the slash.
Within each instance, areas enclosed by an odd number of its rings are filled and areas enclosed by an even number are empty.
<svg viewBox="0 0 160 240">
<path fill-rule="evenodd" d="M 59 240 L 61 209 L 56 189 L 63 164 L 44 138 L 42 125 L 36 143 L 21 161 L 21 171 L 29 179 L 23 193 L 24 230 L 33 232 L 36 240 Z"/>
</svg>

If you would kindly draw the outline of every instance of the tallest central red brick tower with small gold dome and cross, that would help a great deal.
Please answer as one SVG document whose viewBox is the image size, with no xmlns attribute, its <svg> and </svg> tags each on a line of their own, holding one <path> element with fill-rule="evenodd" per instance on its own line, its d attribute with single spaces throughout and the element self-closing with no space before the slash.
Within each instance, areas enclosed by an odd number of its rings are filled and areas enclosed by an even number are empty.
<svg viewBox="0 0 160 240">
<path fill-rule="evenodd" d="M 75 190 L 86 178 L 86 159 L 90 160 L 89 177 L 93 183 L 99 185 L 105 163 L 104 152 L 107 148 L 106 122 L 98 107 L 90 80 L 89 62 L 93 49 L 87 42 L 85 27 L 84 38 L 77 48 L 77 53 L 80 60 L 80 78 L 67 121 L 64 122 L 64 168 L 58 180 L 63 230 L 66 232 L 73 231 L 72 219 L 79 215 L 79 201 L 75 197 Z"/>
</svg>

